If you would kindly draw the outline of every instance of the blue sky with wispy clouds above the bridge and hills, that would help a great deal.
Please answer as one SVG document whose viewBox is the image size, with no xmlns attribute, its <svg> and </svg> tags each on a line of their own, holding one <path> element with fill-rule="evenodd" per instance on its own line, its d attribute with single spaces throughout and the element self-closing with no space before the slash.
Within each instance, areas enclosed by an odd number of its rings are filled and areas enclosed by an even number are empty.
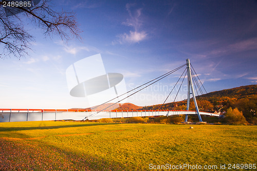
<svg viewBox="0 0 257 171">
<path fill-rule="evenodd" d="M 190 59 L 208 92 L 257 83 L 256 1 L 53 1 L 74 11 L 82 41 L 26 25 L 35 37 L 29 56 L 0 60 L 0 108 L 89 107 L 69 95 L 66 69 L 100 53 L 106 72 L 124 75 L 127 90 Z M 2 46 L 2 45 L 1 45 Z M 161 104 L 183 69 L 127 102 Z M 186 81 L 177 100 L 186 99 Z M 176 88 L 178 89 L 178 88 Z M 167 102 L 173 102 L 173 98 Z"/>
</svg>

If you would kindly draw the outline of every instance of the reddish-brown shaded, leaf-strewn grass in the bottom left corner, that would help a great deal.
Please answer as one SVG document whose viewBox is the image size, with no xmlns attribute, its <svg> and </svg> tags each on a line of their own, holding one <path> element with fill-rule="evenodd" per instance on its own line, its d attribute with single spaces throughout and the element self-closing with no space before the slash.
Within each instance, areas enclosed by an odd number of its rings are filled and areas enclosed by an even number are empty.
<svg viewBox="0 0 257 171">
<path fill-rule="evenodd" d="M 120 163 L 46 143 L 1 140 L 1 170 L 128 170 Z M 26 163 L 24 165 L 24 163 Z"/>
</svg>

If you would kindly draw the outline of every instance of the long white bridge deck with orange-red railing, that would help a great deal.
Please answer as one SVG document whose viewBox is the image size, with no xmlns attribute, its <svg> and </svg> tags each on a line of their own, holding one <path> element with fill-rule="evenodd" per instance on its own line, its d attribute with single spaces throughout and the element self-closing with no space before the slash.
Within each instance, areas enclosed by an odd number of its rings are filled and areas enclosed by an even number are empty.
<svg viewBox="0 0 257 171">
<path fill-rule="evenodd" d="M 2 111 L 2 112 L 1 112 Z M 86 111 L 61 109 L 0 109 L 0 122 L 55 121 L 55 120 L 97 120 L 101 118 L 128 118 L 146 116 L 196 115 L 196 111 L 187 110 L 126 110 L 126 111 Z M 200 115 L 220 117 L 217 114 L 200 111 Z"/>
</svg>

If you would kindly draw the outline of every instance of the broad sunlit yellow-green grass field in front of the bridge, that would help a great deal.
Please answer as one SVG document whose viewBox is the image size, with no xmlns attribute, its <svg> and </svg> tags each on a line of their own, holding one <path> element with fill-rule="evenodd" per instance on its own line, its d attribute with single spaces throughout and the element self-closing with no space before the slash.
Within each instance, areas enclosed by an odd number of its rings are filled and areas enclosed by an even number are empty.
<svg viewBox="0 0 257 171">
<path fill-rule="evenodd" d="M 247 125 L 0 123 L 0 170 L 242 170 L 232 166 L 256 163 L 256 135 Z"/>
</svg>

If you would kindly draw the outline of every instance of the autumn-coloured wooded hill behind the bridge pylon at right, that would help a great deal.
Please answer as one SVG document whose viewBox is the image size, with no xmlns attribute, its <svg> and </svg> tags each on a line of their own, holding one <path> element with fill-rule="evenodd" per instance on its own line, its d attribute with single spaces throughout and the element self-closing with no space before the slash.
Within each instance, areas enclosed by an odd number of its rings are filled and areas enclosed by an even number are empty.
<svg viewBox="0 0 257 171">
<path fill-rule="evenodd" d="M 227 111 L 229 107 L 238 108 L 250 123 L 256 123 L 257 111 L 257 85 L 247 85 L 213 91 L 196 97 L 199 110 L 202 111 Z M 187 101 L 167 103 L 161 106 L 144 106 L 145 110 L 185 110 Z M 189 110 L 195 110 L 193 99 L 190 99 Z"/>
</svg>

